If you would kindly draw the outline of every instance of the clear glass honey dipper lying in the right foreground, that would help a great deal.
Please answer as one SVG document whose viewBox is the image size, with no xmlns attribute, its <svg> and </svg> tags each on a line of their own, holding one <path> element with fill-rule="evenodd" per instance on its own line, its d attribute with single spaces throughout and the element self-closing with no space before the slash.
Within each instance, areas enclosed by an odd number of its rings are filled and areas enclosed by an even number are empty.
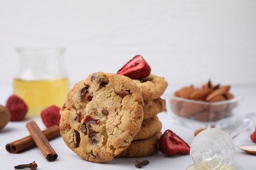
<svg viewBox="0 0 256 170">
<path fill-rule="evenodd" d="M 217 128 L 203 130 L 192 141 L 190 156 L 194 165 L 190 165 L 187 169 L 236 169 L 231 165 L 236 154 L 233 139 L 255 127 L 256 114 L 249 113 L 244 117 L 242 124 L 229 135 Z"/>
</svg>

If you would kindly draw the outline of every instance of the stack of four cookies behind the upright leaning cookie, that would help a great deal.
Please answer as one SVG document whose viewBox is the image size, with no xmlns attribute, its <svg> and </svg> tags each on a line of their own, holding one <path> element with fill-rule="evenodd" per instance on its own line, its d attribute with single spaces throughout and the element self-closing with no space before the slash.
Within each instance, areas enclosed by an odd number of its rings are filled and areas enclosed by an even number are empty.
<svg viewBox="0 0 256 170">
<path fill-rule="evenodd" d="M 116 158 L 136 158 L 155 154 L 161 137 L 161 122 L 157 114 L 165 110 L 165 99 L 161 95 L 167 88 L 167 81 L 160 76 L 150 75 L 134 80 L 144 100 L 144 119 L 130 146 Z"/>
</svg>

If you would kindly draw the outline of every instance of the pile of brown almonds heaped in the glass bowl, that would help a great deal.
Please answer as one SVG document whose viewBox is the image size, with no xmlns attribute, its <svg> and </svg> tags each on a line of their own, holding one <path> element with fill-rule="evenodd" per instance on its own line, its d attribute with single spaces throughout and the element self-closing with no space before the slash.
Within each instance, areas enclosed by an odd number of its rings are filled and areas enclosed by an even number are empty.
<svg viewBox="0 0 256 170">
<path fill-rule="evenodd" d="M 186 86 L 173 94 L 184 99 L 173 97 L 171 108 L 178 116 L 200 122 L 221 120 L 232 116 L 232 110 L 237 105 L 237 102 L 221 102 L 234 98 L 229 90 L 230 86 L 213 85 L 210 80 L 201 88 Z"/>
</svg>

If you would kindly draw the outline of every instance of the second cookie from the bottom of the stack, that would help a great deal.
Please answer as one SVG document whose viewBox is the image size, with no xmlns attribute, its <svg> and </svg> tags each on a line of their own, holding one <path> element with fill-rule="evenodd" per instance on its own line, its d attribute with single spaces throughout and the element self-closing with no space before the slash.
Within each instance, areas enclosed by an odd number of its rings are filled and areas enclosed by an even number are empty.
<svg viewBox="0 0 256 170">
<path fill-rule="evenodd" d="M 161 122 L 158 116 L 143 120 L 140 130 L 135 135 L 133 140 L 147 139 L 154 136 L 158 131 L 161 130 Z"/>
</svg>

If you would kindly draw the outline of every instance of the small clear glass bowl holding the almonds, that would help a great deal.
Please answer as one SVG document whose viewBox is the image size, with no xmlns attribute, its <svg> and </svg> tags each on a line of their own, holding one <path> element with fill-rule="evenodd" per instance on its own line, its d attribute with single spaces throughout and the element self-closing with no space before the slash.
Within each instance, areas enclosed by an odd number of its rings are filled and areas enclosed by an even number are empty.
<svg viewBox="0 0 256 170">
<path fill-rule="evenodd" d="M 184 99 L 170 95 L 167 97 L 167 108 L 171 118 L 182 126 L 198 128 L 224 128 L 236 122 L 240 97 L 233 99 L 206 102 Z"/>
</svg>

